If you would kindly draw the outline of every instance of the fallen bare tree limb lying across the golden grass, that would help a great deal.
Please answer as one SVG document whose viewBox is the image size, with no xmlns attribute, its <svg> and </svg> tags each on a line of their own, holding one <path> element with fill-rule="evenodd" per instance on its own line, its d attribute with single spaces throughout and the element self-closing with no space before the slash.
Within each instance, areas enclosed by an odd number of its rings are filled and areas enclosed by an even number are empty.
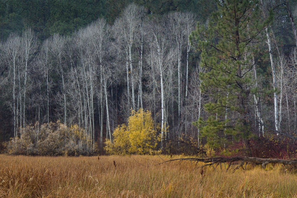
<svg viewBox="0 0 297 198">
<path fill-rule="evenodd" d="M 220 164 L 220 163 L 226 163 L 229 162 L 227 170 L 230 168 L 233 162 L 238 162 L 239 165 L 233 170 L 235 171 L 236 169 L 239 169 L 240 167 L 243 166 L 244 163 L 251 163 L 251 164 L 262 164 L 262 167 L 265 169 L 266 165 L 271 163 L 271 164 L 297 164 L 297 159 L 295 160 L 285 160 L 285 159 L 265 159 L 265 158 L 255 158 L 255 157 L 243 157 L 243 156 L 236 156 L 236 157 L 230 157 L 230 158 L 225 158 L 225 157 L 213 157 L 213 158 L 178 158 L 178 159 L 170 159 L 168 161 L 164 161 L 160 164 L 164 164 L 170 161 L 194 161 L 196 164 L 198 162 L 204 162 L 202 167 L 204 166 L 211 166 L 214 164 Z"/>
</svg>

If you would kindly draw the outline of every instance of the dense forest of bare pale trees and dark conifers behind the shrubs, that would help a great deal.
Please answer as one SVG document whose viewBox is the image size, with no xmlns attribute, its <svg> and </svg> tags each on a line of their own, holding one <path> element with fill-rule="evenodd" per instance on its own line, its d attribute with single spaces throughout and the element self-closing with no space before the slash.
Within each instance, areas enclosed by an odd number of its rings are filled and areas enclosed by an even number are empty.
<svg viewBox="0 0 297 198">
<path fill-rule="evenodd" d="M 205 143 L 253 155 L 271 142 L 294 150 L 294 3 L 1 0 L 0 142 L 59 120 L 102 149 L 141 108 L 165 152 L 195 154 Z M 244 10 L 234 12 L 240 41 L 223 25 L 230 5 Z M 226 69 L 232 60 L 240 70 Z"/>
</svg>

